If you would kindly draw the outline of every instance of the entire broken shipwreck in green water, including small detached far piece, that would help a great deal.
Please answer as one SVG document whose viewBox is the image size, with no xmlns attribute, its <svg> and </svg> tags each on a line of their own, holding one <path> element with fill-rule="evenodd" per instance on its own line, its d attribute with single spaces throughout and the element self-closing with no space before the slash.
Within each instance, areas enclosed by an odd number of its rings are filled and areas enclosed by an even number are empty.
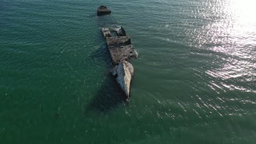
<svg viewBox="0 0 256 144">
<path fill-rule="evenodd" d="M 101 5 L 97 10 L 106 11 L 106 6 Z M 106 12 L 101 15 L 110 14 Z M 100 15 L 98 15 L 100 16 Z M 126 35 L 125 29 L 121 26 L 109 26 L 101 27 L 103 37 L 106 39 L 106 44 L 114 64 L 114 68 L 111 71 L 115 80 L 118 82 L 120 88 L 126 95 L 127 100 L 130 98 L 130 85 L 134 74 L 134 69 L 131 63 L 127 62 L 131 57 L 137 57 L 138 54 L 135 51 L 135 47 L 131 44 L 131 38 Z"/>
</svg>

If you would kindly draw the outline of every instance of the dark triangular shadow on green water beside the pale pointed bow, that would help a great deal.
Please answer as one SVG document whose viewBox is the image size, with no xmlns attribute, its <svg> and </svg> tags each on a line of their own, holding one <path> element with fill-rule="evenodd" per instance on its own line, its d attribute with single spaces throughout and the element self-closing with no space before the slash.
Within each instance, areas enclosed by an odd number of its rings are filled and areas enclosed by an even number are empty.
<svg viewBox="0 0 256 144">
<path fill-rule="evenodd" d="M 127 104 L 125 94 L 115 82 L 114 77 L 109 74 L 101 85 L 100 90 L 86 107 L 86 112 L 108 112 L 120 104 Z"/>
</svg>

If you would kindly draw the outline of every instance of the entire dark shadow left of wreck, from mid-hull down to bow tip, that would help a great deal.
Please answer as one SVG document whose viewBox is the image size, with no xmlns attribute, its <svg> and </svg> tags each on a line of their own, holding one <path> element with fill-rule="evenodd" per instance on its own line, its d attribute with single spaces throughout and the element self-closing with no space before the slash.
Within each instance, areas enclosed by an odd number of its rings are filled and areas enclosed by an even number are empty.
<svg viewBox="0 0 256 144">
<path fill-rule="evenodd" d="M 110 53 L 106 45 L 101 45 L 99 49 L 91 53 L 90 58 L 92 61 L 95 61 L 95 63 L 105 63 L 107 69 L 100 89 L 97 91 L 94 98 L 92 98 L 89 105 L 85 107 L 84 113 L 89 111 L 108 112 L 120 104 L 126 105 L 126 96 L 124 92 L 121 91 L 114 76 L 110 73 L 110 70 L 114 66 L 112 65 Z"/>
</svg>

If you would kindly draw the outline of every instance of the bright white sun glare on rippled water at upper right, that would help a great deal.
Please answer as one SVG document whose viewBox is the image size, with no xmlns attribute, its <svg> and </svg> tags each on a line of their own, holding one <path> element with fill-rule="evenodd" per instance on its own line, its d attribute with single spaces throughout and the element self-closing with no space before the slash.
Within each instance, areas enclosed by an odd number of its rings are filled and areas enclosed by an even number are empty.
<svg viewBox="0 0 256 144">
<path fill-rule="evenodd" d="M 217 59 L 212 63 L 222 61 L 206 73 L 221 79 L 220 87 L 256 93 L 255 88 L 247 85 L 253 83 L 256 75 L 256 0 L 202 3 L 206 3 L 202 15 L 211 20 L 189 33 L 193 35 L 191 41 L 197 49 L 214 52 Z"/>
</svg>

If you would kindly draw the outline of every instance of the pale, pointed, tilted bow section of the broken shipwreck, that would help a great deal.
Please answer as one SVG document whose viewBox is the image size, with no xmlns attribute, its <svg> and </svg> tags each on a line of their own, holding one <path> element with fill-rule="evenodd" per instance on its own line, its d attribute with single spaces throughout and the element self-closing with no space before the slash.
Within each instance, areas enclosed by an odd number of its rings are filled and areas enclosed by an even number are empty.
<svg viewBox="0 0 256 144">
<path fill-rule="evenodd" d="M 123 89 L 127 99 L 130 97 L 130 85 L 134 69 L 132 64 L 127 61 L 121 62 L 112 70 L 115 80 L 118 82 L 121 89 Z"/>
</svg>

